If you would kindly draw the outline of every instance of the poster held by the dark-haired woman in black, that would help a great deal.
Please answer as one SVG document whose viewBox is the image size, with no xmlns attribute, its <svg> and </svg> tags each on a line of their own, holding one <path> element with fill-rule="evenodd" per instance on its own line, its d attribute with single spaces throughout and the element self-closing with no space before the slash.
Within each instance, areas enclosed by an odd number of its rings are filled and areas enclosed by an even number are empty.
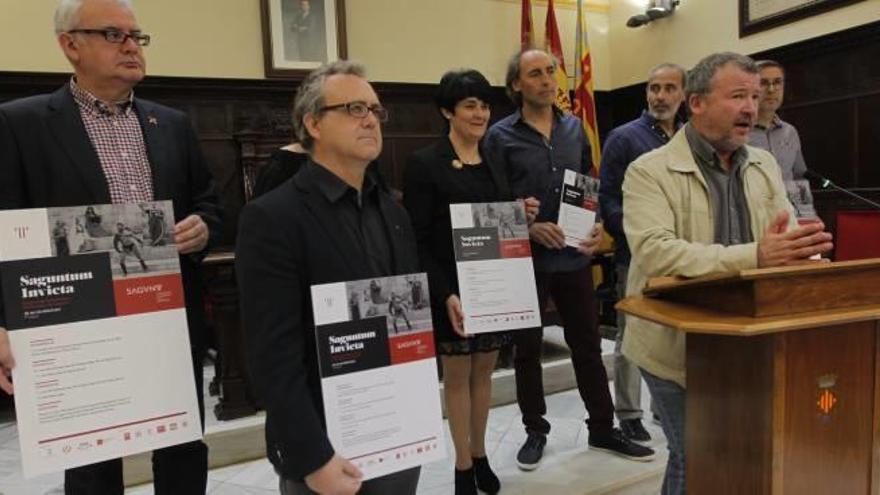
<svg viewBox="0 0 880 495">
<path fill-rule="evenodd" d="M 449 212 L 465 332 L 540 326 L 525 205 L 463 203 Z"/>
</svg>

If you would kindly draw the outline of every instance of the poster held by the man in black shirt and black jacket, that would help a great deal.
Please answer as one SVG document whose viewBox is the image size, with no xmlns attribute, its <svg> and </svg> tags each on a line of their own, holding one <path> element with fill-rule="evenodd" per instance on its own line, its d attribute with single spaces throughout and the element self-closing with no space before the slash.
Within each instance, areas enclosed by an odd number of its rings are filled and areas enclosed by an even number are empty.
<svg viewBox="0 0 880 495">
<path fill-rule="evenodd" d="M 333 448 L 372 479 L 446 457 L 424 273 L 312 286 Z"/>
</svg>

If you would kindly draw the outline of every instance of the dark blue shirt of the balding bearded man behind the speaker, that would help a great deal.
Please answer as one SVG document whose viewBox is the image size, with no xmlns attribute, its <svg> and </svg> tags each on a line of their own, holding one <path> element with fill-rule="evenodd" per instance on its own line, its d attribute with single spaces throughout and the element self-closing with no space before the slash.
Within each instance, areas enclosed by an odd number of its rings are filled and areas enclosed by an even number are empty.
<svg viewBox="0 0 880 495">
<path fill-rule="evenodd" d="M 675 128 L 681 127 L 676 122 Z M 636 158 L 669 142 L 660 122 L 647 111 L 642 116 L 615 128 L 602 146 L 602 166 L 599 168 L 599 211 L 605 230 L 614 237 L 614 260 L 618 265 L 629 265 L 630 252 L 623 233 L 623 177 Z"/>
</svg>

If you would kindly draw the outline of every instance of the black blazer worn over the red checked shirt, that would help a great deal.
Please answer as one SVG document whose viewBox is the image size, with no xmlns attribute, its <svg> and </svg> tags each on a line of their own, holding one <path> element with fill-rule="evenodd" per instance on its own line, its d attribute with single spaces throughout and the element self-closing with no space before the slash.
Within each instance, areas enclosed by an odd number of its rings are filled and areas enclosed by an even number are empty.
<svg viewBox="0 0 880 495">
<path fill-rule="evenodd" d="M 210 229 L 210 245 L 220 235 L 220 208 L 189 118 L 139 98 L 134 107 L 153 174 L 154 199 L 174 202 L 175 221 L 201 216 Z M 68 86 L 0 105 L 0 209 L 110 202 L 98 154 Z M 198 253 L 180 260 L 190 342 L 196 349 L 204 345 L 204 308 L 196 273 L 203 257 Z"/>
</svg>

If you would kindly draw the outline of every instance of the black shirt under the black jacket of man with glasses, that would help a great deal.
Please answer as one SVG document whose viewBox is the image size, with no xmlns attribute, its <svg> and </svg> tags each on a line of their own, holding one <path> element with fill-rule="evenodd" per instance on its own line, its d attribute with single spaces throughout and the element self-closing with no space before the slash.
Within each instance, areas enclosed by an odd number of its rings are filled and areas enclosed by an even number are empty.
<svg viewBox="0 0 880 495">
<path fill-rule="evenodd" d="M 320 169 L 315 174 L 318 189 L 337 209 L 338 227 L 348 230 L 351 237 L 357 239 L 357 248 L 364 255 L 363 262 L 377 276 L 391 276 L 391 246 L 379 209 L 380 187 L 373 174 L 364 174 L 364 183 L 359 192 L 317 163 L 310 162 L 306 166 Z"/>
</svg>

